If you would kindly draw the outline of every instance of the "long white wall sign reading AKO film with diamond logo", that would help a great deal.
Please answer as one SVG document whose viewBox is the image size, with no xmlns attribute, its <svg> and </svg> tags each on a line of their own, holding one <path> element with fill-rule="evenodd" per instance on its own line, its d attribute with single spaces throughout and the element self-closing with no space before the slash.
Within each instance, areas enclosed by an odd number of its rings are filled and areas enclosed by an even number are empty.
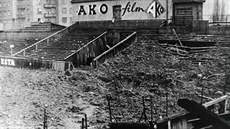
<svg viewBox="0 0 230 129">
<path fill-rule="evenodd" d="M 116 17 L 120 20 L 166 18 L 166 0 L 98 1 L 73 3 L 72 6 L 74 21 L 113 20 Z"/>
</svg>

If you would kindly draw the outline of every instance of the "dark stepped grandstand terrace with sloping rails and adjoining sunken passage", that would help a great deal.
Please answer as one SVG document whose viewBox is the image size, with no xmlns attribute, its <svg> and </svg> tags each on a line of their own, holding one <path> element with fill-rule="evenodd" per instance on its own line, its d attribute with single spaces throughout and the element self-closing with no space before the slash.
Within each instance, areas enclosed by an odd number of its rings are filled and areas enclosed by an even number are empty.
<svg viewBox="0 0 230 129">
<path fill-rule="evenodd" d="M 130 30 L 84 29 L 81 28 L 81 24 L 75 23 L 57 31 L 19 50 L 13 56 L 31 60 L 35 62 L 34 65 L 36 65 L 37 61 L 48 61 L 49 65 L 53 63 L 58 65 L 55 65 L 55 67 L 59 67 L 59 65 L 64 67 L 65 62 L 71 62 L 74 67 L 79 67 L 81 65 L 90 65 L 94 58 L 100 56 L 115 44 L 125 44 L 126 42 L 129 44 L 131 43 L 129 38 L 135 39 L 134 35 L 129 36 L 131 34 Z M 119 48 L 116 52 L 122 50 L 123 48 Z M 100 61 L 100 63 L 102 62 Z"/>
</svg>

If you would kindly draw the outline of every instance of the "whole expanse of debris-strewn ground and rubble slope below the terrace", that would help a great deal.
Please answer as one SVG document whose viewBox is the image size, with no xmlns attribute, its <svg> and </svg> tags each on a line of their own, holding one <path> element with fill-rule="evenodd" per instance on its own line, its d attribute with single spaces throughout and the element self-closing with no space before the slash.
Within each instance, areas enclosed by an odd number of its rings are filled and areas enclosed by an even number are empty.
<svg viewBox="0 0 230 129">
<path fill-rule="evenodd" d="M 0 66 L 0 129 L 42 129 L 44 109 L 49 129 L 80 128 L 84 114 L 89 128 L 108 128 L 108 96 L 119 122 L 139 121 L 143 96 L 148 119 L 152 98 L 154 121 L 183 110 L 177 105 L 179 98 L 200 102 L 202 87 L 206 98 L 222 96 L 229 48 L 189 56 L 212 60 L 199 66 L 153 40 L 138 39 L 94 70 L 82 67 L 63 73 Z"/>
</svg>

